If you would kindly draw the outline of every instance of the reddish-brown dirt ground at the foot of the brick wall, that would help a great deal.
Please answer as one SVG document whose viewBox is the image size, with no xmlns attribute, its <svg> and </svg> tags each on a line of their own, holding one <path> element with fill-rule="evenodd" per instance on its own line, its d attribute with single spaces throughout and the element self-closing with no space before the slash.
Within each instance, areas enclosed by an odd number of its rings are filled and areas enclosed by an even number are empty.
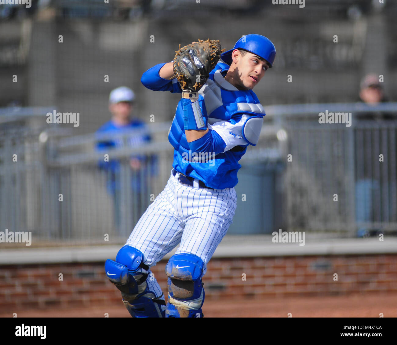
<svg viewBox="0 0 397 345">
<path fill-rule="evenodd" d="M 205 317 L 397 317 L 397 294 L 350 295 L 335 297 L 301 297 L 289 299 L 261 299 L 244 301 L 208 301 L 204 304 Z M 129 317 L 120 301 L 117 306 L 88 307 L 65 310 L 27 310 L 18 317 Z M 12 317 L 12 313 L 0 314 Z"/>
</svg>

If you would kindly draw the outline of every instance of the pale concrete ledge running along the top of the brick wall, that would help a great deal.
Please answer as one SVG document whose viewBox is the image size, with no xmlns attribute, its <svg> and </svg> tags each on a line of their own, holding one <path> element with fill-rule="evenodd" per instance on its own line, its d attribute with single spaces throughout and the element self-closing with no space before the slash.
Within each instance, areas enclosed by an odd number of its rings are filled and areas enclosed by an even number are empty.
<svg viewBox="0 0 397 345">
<path fill-rule="evenodd" d="M 91 247 L 23 248 L 0 251 L 0 265 L 59 264 L 66 262 L 100 262 L 114 259 L 122 245 Z M 164 256 L 170 258 L 175 250 Z M 270 236 L 227 236 L 216 249 L 213 258 L 358 255 L 397 253 L 397 238 L 316 239 L 299 243 L 272 243 Z"/>
</svg>

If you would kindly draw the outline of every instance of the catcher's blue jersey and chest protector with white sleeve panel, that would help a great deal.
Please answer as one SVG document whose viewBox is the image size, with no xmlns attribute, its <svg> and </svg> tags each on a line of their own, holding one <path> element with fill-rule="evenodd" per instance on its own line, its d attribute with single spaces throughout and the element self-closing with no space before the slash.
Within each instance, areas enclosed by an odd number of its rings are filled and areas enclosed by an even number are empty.
<svg viewBox="0 0 397 345">
<path fill-rule="evenodd" d="M 159 71 L 163 66 L 158 64 L 148 69 L 141 82 L 150 90 L 181 93 L 176 79 L 170 81 L 160 77 Z M 228 69 L 229 65 L 218 62 L 199 91 L 199 104 L 203 117 L 207 119 L 209 134 L 187 142 L 180 101 L 168 135 L 174 147 L 173 168 L 214 189 L 237 185 L 237 171 L 241 168 L 239 160 L 247 146 L 256 145 L 245 136 L 245 124 L 250 118 L 261 118 L 263 122 L 265 116 L 252 90 L 238 90 L 224 79 Z"/>
</svg>

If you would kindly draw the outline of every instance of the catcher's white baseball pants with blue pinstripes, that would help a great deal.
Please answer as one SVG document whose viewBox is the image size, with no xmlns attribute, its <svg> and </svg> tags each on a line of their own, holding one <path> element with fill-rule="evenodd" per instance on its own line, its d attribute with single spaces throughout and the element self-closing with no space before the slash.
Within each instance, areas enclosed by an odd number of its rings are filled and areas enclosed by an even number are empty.
<svg viewBox="0 0 397 345">
<path fill-rule="evenodd" d="M 175 252 L 195 254 L 207 262 L 232 223 L 237 196 L 234 188 L 193 188 L 171 174 L 167 185 L 139 219 L 125 245 L 139 249 L 144 263 L 154 266 L 180 243 Z M 152 272 L 148 287 L 162 295 Z M 164 298 L 164 297 L 163 297 Z"/>
</svg>

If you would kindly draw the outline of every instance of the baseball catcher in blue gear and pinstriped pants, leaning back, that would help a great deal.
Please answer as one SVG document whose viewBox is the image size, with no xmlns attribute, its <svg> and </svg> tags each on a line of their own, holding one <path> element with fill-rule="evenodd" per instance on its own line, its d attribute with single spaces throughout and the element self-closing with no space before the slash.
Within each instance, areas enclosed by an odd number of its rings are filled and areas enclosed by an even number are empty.
<svg viewBox="0 0 397 345">
<path fill-rule="evenodd" d="M 258 142 L 265 116 L 252 89 L 275 56 L 273 43 L 261 35 L 243 36 L 223 53 L 219 41 L 198 40 L 179 46 L 173 62 L 143 73 L 146 88 L 182 97 L 168 134 L 170 179 L 116 260 L 105 263 L 131 316 L 203 316 L 202 276 L 233 220 L 239 160 Z M 178 244 L 166 265 L 166 303 L 150 267 Z"/>
</svg>

